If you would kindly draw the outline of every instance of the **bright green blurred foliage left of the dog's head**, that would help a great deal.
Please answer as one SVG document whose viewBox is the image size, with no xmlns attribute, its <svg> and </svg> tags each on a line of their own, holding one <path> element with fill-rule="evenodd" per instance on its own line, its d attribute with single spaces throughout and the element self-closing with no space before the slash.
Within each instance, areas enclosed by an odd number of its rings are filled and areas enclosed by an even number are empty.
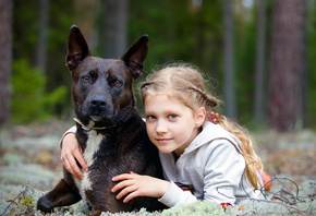
<svg viewBox="0 0 316 216">
<path fill-rule="evenodd" d="M 65 99 L 66 87 L 60 86 L 51 93 L 45 91 L 46 76 L 26 60 L 13 63 L 11 120 L 13 123 L 29 123 L 47 120 L 54 106 Z"/>
</svg>

